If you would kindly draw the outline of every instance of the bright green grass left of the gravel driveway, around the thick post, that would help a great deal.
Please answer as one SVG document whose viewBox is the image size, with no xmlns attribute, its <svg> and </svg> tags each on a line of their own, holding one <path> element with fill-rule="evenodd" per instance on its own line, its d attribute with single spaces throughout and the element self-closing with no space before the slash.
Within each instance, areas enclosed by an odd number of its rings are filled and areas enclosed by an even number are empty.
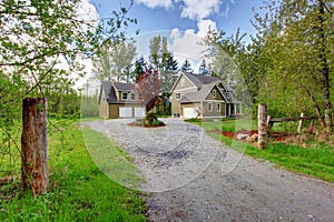
<svg viewBox="0 0 334 222">
<path fill-rule="evenodd" d="M 112 182 L 100 171 L 87 151 L 78 122 L 53 123 L 59 129 L 49 125 L 50 191 L 33 199 L 30 194 L 19 195 L 14 190 L 19 181 L 0 186 L 1 194 L 14 196 L 0 200 L 0 221 L 147 221 L 145 194 Z M 118 159 L 128 159 L 100 133 L 84 130 L 90 150 L 112 150 L 110 153 L 117 153 Z M 104 147 L 94 143 L 97 140 Z M 130 161 L 126 167 L 116 161 L 112 167 L 140 181 Z"/>
</svg>

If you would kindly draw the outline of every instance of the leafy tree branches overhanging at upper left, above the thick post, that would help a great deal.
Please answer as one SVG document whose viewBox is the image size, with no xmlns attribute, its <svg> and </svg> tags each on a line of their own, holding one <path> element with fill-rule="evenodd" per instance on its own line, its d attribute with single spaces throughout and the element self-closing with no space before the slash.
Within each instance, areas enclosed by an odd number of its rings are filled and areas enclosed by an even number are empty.
<svg viewBox="0 0 334 222">
<path fill-rule="evenodd" d="M 106 20 L 85 19 L 78 13 L 80 3 L 81 0 L 0 1 L 0 128 L 7 137 L 0 145 L 1 153 L 19 144 L 11 133 L 21 128 L 11 123 L 21 120 L 23 98 L 46 97 L 49 92 L 52 97 L 57 92 L 50 91 L 49 83 L 57 81 L 63 83 L 57 84 L 58 93 L 70 94 L 75 81 L 59 80 L 70 79 L 72 72 L 84 74 L 82 60 L 96 53 L 105 41 L 124 39 L 124 28 L 136 23 L 127 17 L 132 2 Z M 39 111 L 45 113 L 45 107 Z"/>
</svg>

